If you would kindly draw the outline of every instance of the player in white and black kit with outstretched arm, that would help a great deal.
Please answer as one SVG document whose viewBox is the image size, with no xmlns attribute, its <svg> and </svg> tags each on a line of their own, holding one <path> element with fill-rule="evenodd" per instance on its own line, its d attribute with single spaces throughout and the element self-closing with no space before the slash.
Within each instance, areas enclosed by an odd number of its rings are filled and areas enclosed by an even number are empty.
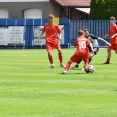
<svg viewBox="0 0 117 117">
<path fill-rule="evenodd" d="M 89 58 L 89 63 L 90 63 L 91 60 L 92 60 L 92 57 L 93 57 L 94 55 L 96 55 L 97 52 L 99 51 L 98 40 L 105 42 L 108 46 L 111 46 L 111 44 L 108 43 L 107 41 L 105 41 L 104 39 L 100 38 L 100 37 L 97 37 L 97 36 L 95 36 L 95 35 L 89 34 L 89 31 L 88 31 L 87 29 L 84 29 L 84 32 L 85 32 L 85 37 L 88 38 L 88 39 L 91 41 L 91 43 L 92 43 L 92 45 L 93 45 L 93 49 L 94 49 L 94 53 L 91 53 L 91 56 L 90 56 L 90 58 Z M 89 50 L 90 50 L 90 52 L 91 52 L 91 48 L 90 48 L 90 47 L 89 47 Z M 79 63 L 80 63 L 81 61 L 82 61 L 82 60 L 80 60 L 77 64 L 75 64 L 75 66 L 73 66 L 72 69 L 78 68 Z"/>
</svg>

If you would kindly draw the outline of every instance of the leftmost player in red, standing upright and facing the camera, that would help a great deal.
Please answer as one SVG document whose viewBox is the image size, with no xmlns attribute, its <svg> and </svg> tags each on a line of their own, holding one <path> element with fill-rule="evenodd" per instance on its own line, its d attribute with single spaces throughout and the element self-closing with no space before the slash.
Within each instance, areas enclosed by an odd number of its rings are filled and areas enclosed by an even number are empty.
<svg viewBox="0 0 117 117">
<path fill-rule="evenodd" d="M 54 15 L 49 15 L 49 23 L 46 23 L 44 25 L 42 33 L 40 34 L 38 39 L 41 38 L 41 36 L 43 35 L 44 32 L 46 33 L 46 49 L 48 52 L 48 59 L 51 64 L 50 68 L 54 68 L 53 57 L 51 54 L 51 50 L 53 50 L 53 49 L 58 50 L 60 66 L 64 67 L 63 56 L 62 56 L 61 47 L 60 47 L 60 43 L 59 43 L 59 40 L 61 40 L 61 29 L 59 28 L 59 26 L 56 23 L 54 23 Z"/>
</svg>

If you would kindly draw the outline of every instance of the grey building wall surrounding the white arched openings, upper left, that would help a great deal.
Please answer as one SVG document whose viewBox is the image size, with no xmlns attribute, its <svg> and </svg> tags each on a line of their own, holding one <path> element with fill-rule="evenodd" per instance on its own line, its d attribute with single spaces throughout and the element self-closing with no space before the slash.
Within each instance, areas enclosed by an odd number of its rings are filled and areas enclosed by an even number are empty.
<svg viewBox="0 0 117 117">
<path fill-rule="evenodd" d="M 9 11 L 9 18 L 23 18 L 23 10 L 36 8 L 42 10 L 42 17 L 47 18 L 49 13 L 49 2 L 0 2 L 0 9 Z"/>
</svg>

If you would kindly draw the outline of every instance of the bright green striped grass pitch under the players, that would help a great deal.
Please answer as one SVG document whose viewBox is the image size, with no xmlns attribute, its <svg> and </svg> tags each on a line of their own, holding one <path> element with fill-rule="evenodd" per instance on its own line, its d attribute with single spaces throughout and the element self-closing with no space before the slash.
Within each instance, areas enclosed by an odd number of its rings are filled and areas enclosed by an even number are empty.
<svg viewBox="0 0 117 117">
<path fill-rule="evenodd" d="M 62 49 L 64 64 L 75 49 Z M 0 50 L 0 117 L 117 117 L 117 55 L 103 65 L 100 49 L 86 74 L 78 69 L 62 75 L 57 50 L 50 69 L 45 49 Z M 73 66 L 74 63 L 71 65 Z"/>
</svg>

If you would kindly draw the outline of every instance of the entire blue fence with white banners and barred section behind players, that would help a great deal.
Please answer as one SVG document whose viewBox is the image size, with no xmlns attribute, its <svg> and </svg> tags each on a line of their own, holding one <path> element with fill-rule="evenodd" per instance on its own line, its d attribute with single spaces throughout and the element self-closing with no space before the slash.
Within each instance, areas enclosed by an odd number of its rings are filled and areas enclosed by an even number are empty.
<svg viewBox="0 0 117 117">
<path fill-rule="evenodd" d="M 58 18 L 59 19 L 59 18 Z M 0 19 L 0 47 L 3 48 L 45 48 L 45 41 L 38 42 L 37 37 L 47 23 L 48 18 L 44 19 Z M 78 30 L 88 29 L 91 34 L 104 38 L 107 34 L 109 20 L 73 20 L 67 18 L 59 19 L 59 26 L 62 29 L 61 47 L 69 48 L 73 46 L 74 40 L 78 36 Z M 19 31 L 14 31 L 19 28 Z M 18 35 L 19 34 L 19 35 Z M 21 35 L 20 35 L 21 34 Z M 44 35 L 45 36 L 45 35 Z M 23 39 L 19 39 L 23 38 Z M 5 40 L 6 39 L 6 40 Z M 19 40 L 18 40 L 19 39 Z M 106 39 L 110 41 L 109 37 Z M 3 42 L 2 42 L 3 41 Z M 5 42 L 6 41 L 6 42 Z M 107 46 L 99 41 L 100 46 Z"/>
</svg>

